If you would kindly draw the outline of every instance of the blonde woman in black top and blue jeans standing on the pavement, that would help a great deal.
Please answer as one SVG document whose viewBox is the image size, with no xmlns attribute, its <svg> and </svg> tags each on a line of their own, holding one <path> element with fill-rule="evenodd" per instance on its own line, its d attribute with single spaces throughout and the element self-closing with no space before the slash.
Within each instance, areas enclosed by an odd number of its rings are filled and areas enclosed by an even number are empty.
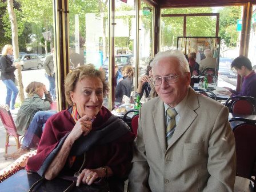
<svg viewBox="0 0 256 192">
<path fill-rule="evenodd" d="M 5 45 L 2 50 L 2 57 L 0 58 L 1 79 L 6 85 L 6 105 L 9 105 L 11 110 L 14 110 L 15 101 L 19 93 L 15 85 L 14 71 L 18 69 L 19 64 L 14 62 L 13 46 Z"/>
</svg>

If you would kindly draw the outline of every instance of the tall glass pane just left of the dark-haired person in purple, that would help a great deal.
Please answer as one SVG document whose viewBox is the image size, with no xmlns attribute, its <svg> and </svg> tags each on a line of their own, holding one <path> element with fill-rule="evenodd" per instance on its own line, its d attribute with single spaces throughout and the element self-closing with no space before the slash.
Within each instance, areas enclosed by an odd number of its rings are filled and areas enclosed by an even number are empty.
<svg viewBox="0 0 256 192">
<path fill-rule="evenodd" d="M 221 51 L 219 55 L 218 86 L 235 89 L 237 71 L 231 69 L 231 62 L 239 56 L 241 30 L 237 30 L 238 21 L 242 21 L 242 6 L 216 7 L 219 13 L 219 36 Z M 242 22 L 241 22 L 242 26 Z"/>
</svg>

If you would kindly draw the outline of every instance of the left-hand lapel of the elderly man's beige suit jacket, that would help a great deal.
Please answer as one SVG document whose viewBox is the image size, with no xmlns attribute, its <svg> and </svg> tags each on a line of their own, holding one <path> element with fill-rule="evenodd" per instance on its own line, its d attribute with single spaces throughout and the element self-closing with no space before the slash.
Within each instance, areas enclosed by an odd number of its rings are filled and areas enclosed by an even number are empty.
<svg viewBox="0 0 256 192">
<path fill-rule="evenodd" d="M 163 153 L 166 151 L 166 138 L 165 138 L 165 107 L 161 99 L 155 103 L 155 108 L 152 111 L 155 130 L 157 131 L 157 136 Z"/>
</svg>

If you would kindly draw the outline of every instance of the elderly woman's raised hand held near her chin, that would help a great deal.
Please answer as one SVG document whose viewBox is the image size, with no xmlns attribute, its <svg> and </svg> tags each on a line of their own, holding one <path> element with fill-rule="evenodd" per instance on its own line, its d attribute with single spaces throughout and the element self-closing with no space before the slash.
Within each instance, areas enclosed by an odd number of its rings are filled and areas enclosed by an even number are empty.
<svg viewBox="0 0 256 192">
<path fill-rule="evenodd" d="M 74 128 L 69 134 L 69 137 L 72 138 L 73 142 L 77 140 L 82 134 L 85 136 L 90 133 L 93 119 L 95 119 L 95 117 L 90 117 L 88 115 L 84 115 L 78 119 L 77 123 L 75 123 Z"/>
</svg>

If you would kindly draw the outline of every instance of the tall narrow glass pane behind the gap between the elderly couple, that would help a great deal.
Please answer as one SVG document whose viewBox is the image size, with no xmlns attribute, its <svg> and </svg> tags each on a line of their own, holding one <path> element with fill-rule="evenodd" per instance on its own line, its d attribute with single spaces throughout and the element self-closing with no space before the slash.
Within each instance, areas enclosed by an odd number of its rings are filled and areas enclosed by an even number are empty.
<svg viewBox="0 0 256 192">
<path fill-rule="evenodd" d="M 117 66 L 115 68 L 115 104 L 118 105 L 122 101 L 127 101 L 128 99 L 125 98 L 130 98 L 131 91 L 134 91 L 136 41 L 134 1 L 127 1 L 127 3 L 115 1 L 115 23 L 114 51 Z"/>
</svg>

